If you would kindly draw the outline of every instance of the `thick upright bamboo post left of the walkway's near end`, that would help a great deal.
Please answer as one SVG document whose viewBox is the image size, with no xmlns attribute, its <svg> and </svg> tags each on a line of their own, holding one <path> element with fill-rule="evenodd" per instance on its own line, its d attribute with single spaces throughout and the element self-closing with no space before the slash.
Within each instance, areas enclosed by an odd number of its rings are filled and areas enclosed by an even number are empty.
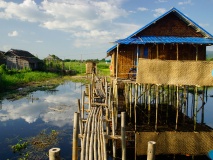
<svg viewBox="0 0 213 160">
<path fill-rule="evenodd" d="M 75 112 L 73 123 L 72 160 L 78 160 L 78 126 L 79 126 L 79 113 Z"/>
</svg>

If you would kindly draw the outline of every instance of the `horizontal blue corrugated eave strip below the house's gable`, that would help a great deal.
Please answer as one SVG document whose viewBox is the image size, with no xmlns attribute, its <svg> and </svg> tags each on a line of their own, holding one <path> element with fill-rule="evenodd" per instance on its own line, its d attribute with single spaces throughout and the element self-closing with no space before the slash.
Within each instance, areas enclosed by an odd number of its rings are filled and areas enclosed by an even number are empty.
<svg viewBox="0 0 213 160">
<path fill-rule="evenodd" d="M 213 38 L 202 37 L 173 37 L 173 36 L 142 36 L 136 38 L 125 38 L 116 41 L 119 44 L 206 44 L 212 45 Z"/>
</svg>

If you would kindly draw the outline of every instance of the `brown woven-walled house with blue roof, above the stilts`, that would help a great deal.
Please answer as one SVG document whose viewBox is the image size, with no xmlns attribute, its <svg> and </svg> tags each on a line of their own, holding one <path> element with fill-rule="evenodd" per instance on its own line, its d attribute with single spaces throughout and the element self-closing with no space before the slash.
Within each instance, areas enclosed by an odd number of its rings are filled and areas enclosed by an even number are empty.
<svg viewBox="0 0 213 160">
<path fill-rule="evenodd" d="M 107 51 L 112 57 L 111 76 L 127 78 L 130 68 L 137 66 L 139 58 L 205 60 L 206 46 L 213 45 L 213 36 L 172 8 L 116 43 Z"/>
</svg>

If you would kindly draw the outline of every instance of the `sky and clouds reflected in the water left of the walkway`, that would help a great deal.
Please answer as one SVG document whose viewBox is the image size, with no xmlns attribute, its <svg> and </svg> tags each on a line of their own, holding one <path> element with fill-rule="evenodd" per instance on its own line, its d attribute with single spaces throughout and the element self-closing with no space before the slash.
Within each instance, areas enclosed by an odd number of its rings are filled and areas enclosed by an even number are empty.
<svg viewBox="0 0 213 160">
<path fill-rule="evenodd" d="M 0 101 L 0 148 L 3 148 L 0 159 L 14 158 L 9 145 L 21 138 L 36 136 L 44 129 L 68 133 L 59 135 L 62 137 L 58 147 L 62 157 L 71 157 L 66 148 L 71 148 L 73 115 L 77 111 L 81 89 L 80 83 L 66 82 L 54 90 L 35 91 L 15 101 Z"/>
</svg>

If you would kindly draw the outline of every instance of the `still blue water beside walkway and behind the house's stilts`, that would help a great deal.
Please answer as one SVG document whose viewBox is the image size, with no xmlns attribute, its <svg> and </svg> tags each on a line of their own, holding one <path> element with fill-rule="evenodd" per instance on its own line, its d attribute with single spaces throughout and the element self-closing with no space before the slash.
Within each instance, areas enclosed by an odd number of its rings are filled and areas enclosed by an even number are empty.
<svg viewBox="0 0 213 160">
<path fill-rule="evenodd" d="M 48 150 L 52 147 L 61 148 L 62 159 L 70 160 L 73 115 L 78 110 L 77 99 L 81 98 L 82 90 L 84 86 L 81 83 L 66 82 L 52 91 L 35 91 L 19 100 L 3 99 L 0 103 L 0 160 L 16 160 L 24 158 L 26 154 L 29 154 L 29 159 L 45 160 L 48 159 Z M 205 123 L 213 127 L 211 95 L 213 89 L 209 89 L 207 94 Z M 190 101 L 189 97 L 189 107 Z M 199 113 L 198 122 L 200 115 Z M 58 134 L 50 139 L 52 143 L 38 139 L 39 136 L 44 137 L 55 132 Z M 34 140 L 34 143 L 29 144 L 22 152 L 13 153 L 11 146 L 20 140 L 31 143 Z M 36 146 L 41 141 L 44 145 Z"/>
</svg>

